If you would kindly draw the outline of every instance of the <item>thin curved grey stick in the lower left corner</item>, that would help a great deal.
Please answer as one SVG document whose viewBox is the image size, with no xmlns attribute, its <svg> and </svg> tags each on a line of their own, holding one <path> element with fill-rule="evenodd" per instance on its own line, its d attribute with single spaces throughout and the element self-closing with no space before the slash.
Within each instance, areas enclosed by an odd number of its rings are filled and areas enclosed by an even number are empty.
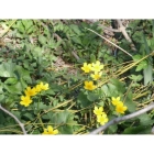
<svg viewBox="0 0 154 154">
<path fill-rule="evenodd" d="M 20 128 L 22 129 L 23 134 L 26 134 L 26 131 L 25 131 L 25 129 L 24 129 L 24 124 L 21 123 L 21 122 L 19 121 L 19 119 L 18 119 L 15 116 L 13 116 L 11 112 L 9 112 L 8 110 L 6 110 L 1 105 L 0 105 L 0 109 L 1 109 L 3 112 L 8 113 L 10 117 L 12 117 L 12 118 L 19 123 Z"/>
</svg>

